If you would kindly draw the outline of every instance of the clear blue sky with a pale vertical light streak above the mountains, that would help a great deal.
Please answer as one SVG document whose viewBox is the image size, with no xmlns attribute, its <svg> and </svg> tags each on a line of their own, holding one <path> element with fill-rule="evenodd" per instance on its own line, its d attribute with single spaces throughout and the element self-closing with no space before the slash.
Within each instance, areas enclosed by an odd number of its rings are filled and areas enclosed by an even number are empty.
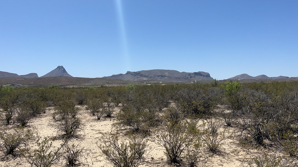
<svg viewBox="0 0 298 167">
<path fill-rule="evenodd" d="M 298 1 L 2 0 L 0 71 L 298 76 Z"/>
</svg>

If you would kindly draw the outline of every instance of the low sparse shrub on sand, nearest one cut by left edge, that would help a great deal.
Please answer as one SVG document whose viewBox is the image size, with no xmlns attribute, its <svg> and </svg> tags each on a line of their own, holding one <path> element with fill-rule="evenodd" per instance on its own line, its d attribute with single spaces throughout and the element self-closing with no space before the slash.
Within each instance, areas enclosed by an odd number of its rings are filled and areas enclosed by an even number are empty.
<svg viewBox="0 0 298 167">
<path fill-rule="evenodd" d="M 18 155 L 24 146 L 28 145 L 28 141 L 33 138 L 33 130 L 16 129 L 10 132 L 4 131 L 0 133 L 0 146 L 4 149 L 6 155 Z"/>
</svg>

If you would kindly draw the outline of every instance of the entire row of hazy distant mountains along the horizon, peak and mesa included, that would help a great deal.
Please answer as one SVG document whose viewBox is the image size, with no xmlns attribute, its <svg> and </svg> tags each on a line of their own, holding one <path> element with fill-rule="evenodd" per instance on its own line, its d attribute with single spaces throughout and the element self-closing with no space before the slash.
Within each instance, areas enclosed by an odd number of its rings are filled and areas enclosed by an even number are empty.
<svg viewBox="0 0 298 167">
<path fill-rule="evenodd" d="M 69 75 L 63 66 L 58 66 L 49 73 L 38 77 L 37 73 L 30 73 L 27 75 L 18 75 L 15 73 L 8 73 L 0 71 L 0 78 L 47 78 L 47 77 L 73 77 Z M 209 73 L 198 71 L 193 73 L 179 72 L 176 70 L 142 70 L 131 72 L 127 71 L 125 74 L 116 74 L 111 76 L 102 77 L 106 79 L 116 79 L 125 81 L 164 81 L 164 82 L 191 82 L 191 81 L 210 81 L 213 78 Z M 56 78 L 57 79 L 57 78 Z M 269 79 L 297 79 L 297 77 L 268 77 L 267 75 L 250 76 L 248 74 L 236 75 L 227 80 L 269 80 Z"/>
</svg>

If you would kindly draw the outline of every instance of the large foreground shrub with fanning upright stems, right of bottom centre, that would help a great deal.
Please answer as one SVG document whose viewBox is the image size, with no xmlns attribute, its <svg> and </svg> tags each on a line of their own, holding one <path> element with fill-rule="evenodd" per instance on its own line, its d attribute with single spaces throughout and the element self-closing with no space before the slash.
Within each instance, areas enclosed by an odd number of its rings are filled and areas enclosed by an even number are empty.
<svg viewBox="0 0 298 167">
<path fill-rule="evenodd" d="M 166 123 L 165 130 L 156 131 L 156 141 L 163 146 L 169 164 L 181 165 L 183 153 L 195 141 L 197 122 Z M 191 152 L 188 152 L 191 153 Z"/>
</svg>

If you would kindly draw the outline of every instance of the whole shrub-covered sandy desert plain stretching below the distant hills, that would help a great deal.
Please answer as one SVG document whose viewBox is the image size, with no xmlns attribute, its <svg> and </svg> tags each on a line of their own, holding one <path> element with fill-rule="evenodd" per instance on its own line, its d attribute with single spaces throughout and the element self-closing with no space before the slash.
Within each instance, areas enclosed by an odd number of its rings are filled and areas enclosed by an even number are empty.
<svg viewBox="0 0 298 167">
<path fill-rule="evenodd" d="M 297 86 L 1 86 L 0 166 L 297 166 Z"/>
</svg>

